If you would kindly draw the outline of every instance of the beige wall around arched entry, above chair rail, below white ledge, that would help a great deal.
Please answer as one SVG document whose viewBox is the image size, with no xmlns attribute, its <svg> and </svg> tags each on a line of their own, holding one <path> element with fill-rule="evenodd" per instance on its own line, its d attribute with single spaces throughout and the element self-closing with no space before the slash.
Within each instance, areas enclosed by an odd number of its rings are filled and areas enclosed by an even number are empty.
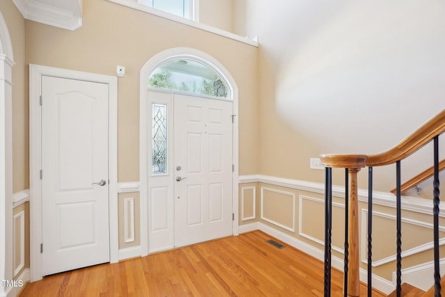
<svg viewBox="0 0 445 297">
<path fill-rule="evenodd" d="M 120 19 L 120 22 L 115 22 Z M 257 48 L 108 1 L 84 1 L 83 26 L 74 32 L 26 22 L 26 63 L 115 75 L 118 83 L 120 182 L 139 179 L 139 72 L 165 49 L 194 47 L 232 74 L 239 88 L 240 173 L 258 170 Z"/>
</svg>

